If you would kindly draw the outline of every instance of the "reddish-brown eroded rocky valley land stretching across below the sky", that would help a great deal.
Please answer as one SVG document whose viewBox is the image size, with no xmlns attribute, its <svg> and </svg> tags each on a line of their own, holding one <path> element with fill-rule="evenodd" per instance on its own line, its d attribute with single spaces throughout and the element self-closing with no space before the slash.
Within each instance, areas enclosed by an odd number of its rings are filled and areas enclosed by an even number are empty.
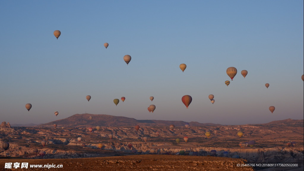
<svg viewBox="0 0 304 171">
<path fill-rule="evenodd" d="M 79 114 L 73 116 L 79 117 Z M 69 118 L 72 118 L 71 120 L 74 121 L 75 118 L 73 116 Z M 93 116 L 92 120 L 89 119 L 89 116 Z M 168 122 L 166 126 L 147 126 L 148 121 L 143 122 L 130 118 L 130 120 L 135 121 L 135 124 L 132 123 L 133 125 L 131 126 L 104 126 L 101 121 L 99 123 L 98 116 L 96 115 L 82 114 L 81 117 L 83 119 L 75 127 L 66 127 L 66 125 L 71 125 L 71 123 L 60 124 L 60 120 L 43 124 L 39 127 L 11 127 L 3 122 L 0 126 L 0 143 L 9 142 L 10 148 L 5 152 L 1 149 L 0 157 L 21 157 L 35 159 L 36 161 L 36 159 L 42 158 L 38 155 L 40 151 L 46 152 L 43 160 L 47 159 L 48 161 L 53 161 L 53 159 L 89 157 L 94 157 L 94 160 L 96 159 L 97 161 L 105 161 L 107 159 L 99 159 L 98 157 L 115 156 L 130 157 L 125 159 L 128 161 L 135 156 L 150 156 L 150 159 L 155 158 L 155 156 L 171 156 L 171 158 L 157 159 L 157 161 L 163 162 L 167 159 L 173 159 L 173 156 L 176 157 L 176 154 L 184 151 L 185 155 L 183 157 L 191 157 L 191 159 L 187 158 L 187 160 L 214 161 L 214 158 L 201 158 L 198 160 L 195 157 L 210 156 L 213 155 L 210 151 L 216 150 L 215 158 L 223 161 L 240 158 L 248 163 L 297 162 L 302 165 L 304 161 L 303 120 L 287 119 L 267 124 L 214 124 L 213 126 L 212 124 L 193 126 L 190 123 L 190 127 L 188 128 L 182 125 L 184 124 L 182 121 L 179 121 L 181 123 L 175 125 L 173 130 L 170 130 L 170 121 L 154 121 L 155 123 L 153 123 L 160 125 L 160 123 L 164 124 Z M 113 119 L 113 117 L 110 118 Z M 108 122 L 105 118 L 103 118 L 103 121 Z M 123 120 L 115 120 L 112 124 L 117 125 L 116 122 L 123 122 Z M 54 127 L 54 123 L 57 123 L 56 128 Z M 129 122 L 126 123 L 130 124 Z M 138 131 L 135 129 L 135 125 L 140 126 Z M 92 132 L 88 129 L 90 127 L 92 128 Z M 206 131 L 211 133 L 209 138 L 205 136 Z M 244 132 L 241 138 L 237 135 L 238 131 Z M 159 132 L 159 135 L 156 132 Z M 112 134 L 112 139 L 109 138 L 109 134 Z M 187 143 L 183 139 L 185 136 L 188 137 Z M 78 141 L 78 137 L 82 138 L 81 141 Z M 147 142 L 143 141 L 143 137 L 147 137 Z M 180 138 L 181 141 L 177 143 L 175 141 L 176 138 Z M 240 142 L 248 142 L 250 140 L 255 141 L 252 148 L 249 146 L 241 148 L 239 146 Z M 46 141 L 46 145 L 41 145 L 41 141 Z M 287 142 L 296 142 L 296 144 L 294 146 L 287 146 Z M 98 144 L 101 144 L 102 147 L 98 148 Z M 33 150 L 35 148 L 38 149 L 38 154 L 34 153 Z M 224 152 L 228 153 L 225 154 Z M 181 156 L 179 155 L 179 157 Z M 148 158 L 147 161 L 149 160 Z M 116 159 L 113 158 L 113 160 Z M 182 160 L 186 160 L 186 158 Z M 108 163 L 110 164 L 107 166 L 112 165 L 111 162 Z M 128 162 L 122 162 L 121 167 L 125 165 L 123 163 Z M 170 166 L 175 164 L 176 162 L 170 164 Z M 190 163 L 187 167 L 192 168 L 193 164 L 195 163 Z M 220 168 L 223 168 L 221 163 L 213 164 L 219 164 L 221 165 Z M 174 168 L 168 168 L 169 165 L 165 166 L 164 162 L 159 167 L 156 164 L 155 167 L 154 165 L 151 166 L 150 170 L 161 170 L 163 168 L 162 165 L 167 170 L 174 170 Z M 226 164 L 224 165 L 226 167 Z M 135 166 L 141 167 L 142 164 L 134 164 Z M 214 167 L 216 168 L 217 166 Z M 205 167 L 197 170 L 203 170 L 203 168 Z"/>
</svg>

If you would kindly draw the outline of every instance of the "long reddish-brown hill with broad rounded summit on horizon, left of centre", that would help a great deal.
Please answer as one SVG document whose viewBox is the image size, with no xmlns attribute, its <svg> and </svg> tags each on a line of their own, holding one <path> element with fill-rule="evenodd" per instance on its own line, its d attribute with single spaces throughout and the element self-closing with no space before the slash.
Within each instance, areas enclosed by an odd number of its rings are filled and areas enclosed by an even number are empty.
<svg viewBox="0 0 304 171">
<path fill-rule="evenodd" d="M 92 116 L 92 120 L 89 117 Z M 169 121 L 169 120 L 136 120 L 129 117 L 103 115 L 103 114 L 75 114 L 71 117 L 65 119 L 55 120 L 46 124 L 41 124 L 39 126 L 49 127 L 57 124 L 62 127 L 91 127 L 91 126 L 168 126 L 174 124 L 174 126 L 185 126 L 187 122 L 184 121 Z M 190 126 L 221 126 L 221 124 L 202 124 L 199 122 L 189 122 Z"/>
</svg>

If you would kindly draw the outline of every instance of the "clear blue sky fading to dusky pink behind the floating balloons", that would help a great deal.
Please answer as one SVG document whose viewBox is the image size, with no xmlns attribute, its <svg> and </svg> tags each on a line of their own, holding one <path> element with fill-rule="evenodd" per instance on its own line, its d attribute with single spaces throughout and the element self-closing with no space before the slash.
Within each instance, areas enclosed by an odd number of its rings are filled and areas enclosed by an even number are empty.
<svg viewBox="0 0 304 171">
<path fill-rule="evenodd" d="M 40 124 L 77 113 L 228 125 L 303 119 L 303 6 L 302 0 L 0 1 L 0 121 Z M 237 68 L 233 81 L 228 67 Z M 184 95 L 192 96 L 188 109 Z M 116 106 L 113 99 L 122 96 Z"/>
</svg>

